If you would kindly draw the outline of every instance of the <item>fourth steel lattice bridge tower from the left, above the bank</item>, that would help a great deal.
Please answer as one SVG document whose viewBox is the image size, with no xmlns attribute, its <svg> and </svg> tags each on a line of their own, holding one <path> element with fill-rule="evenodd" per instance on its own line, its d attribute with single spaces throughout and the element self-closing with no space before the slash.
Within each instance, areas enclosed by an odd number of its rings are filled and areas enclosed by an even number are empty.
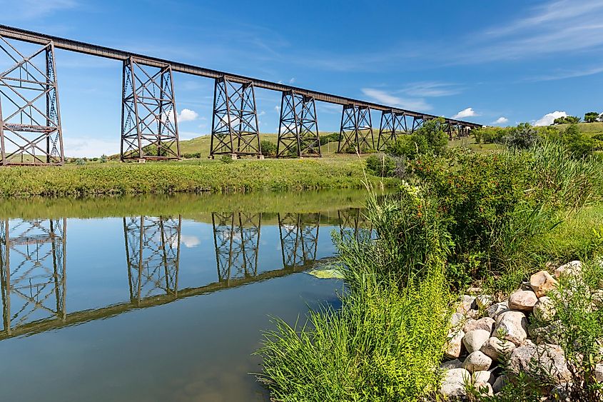
<svg viewBox="0 0 603 402">
<path fill-rule="evenodd" d="M 276 157 L 321 156 L 316 104 L 312 96 L 283 92 Z"/>
</svg>

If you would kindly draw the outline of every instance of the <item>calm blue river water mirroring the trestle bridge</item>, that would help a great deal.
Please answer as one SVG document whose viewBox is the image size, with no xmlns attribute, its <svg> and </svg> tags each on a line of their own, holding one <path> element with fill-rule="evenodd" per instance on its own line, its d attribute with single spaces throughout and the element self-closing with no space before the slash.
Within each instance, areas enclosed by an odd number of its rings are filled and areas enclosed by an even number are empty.
<svg viewBox="0 0 603 402">
<path fill-rule="evenodd" d="M 367 230 L 362 191 L 0 203 L 2 401 L 268 401 L 269 316 L 338 303 L 304 271 Z"/>
</svg>

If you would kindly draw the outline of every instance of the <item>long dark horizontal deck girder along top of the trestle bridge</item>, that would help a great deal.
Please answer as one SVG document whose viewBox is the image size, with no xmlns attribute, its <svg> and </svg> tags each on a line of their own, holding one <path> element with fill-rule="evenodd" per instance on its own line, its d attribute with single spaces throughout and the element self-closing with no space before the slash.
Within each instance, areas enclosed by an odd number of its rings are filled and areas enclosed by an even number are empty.
<svg viewBox="0 0 603 402">
<path fill-rule="evenodd" d="M 94 44 L 88 44 L 86 42 L 74 41 L 71 39 L 61 38 L 59 36 L 51 36 L 46 34 L 40 34 L 34 31 L 26 31 L 24 29 L 13 28 L 11 26 L 0 25 L 0 35 L 5 36 L 7 38 L 16 39 L 19 41 L 26 41 L 33 44 L 47 44 L 49 41 L 54 42 L 54 46 L 56 49 L 63 49 L 67 51 L 75 51 L 81 54 L 89 54 L 92 56 L 104 57 L 106 59 L 113 59 L 124 61 L 130 57 L 138 59 L 139 63 L 145 66 L 153 66 L 162 68 L 166 65 L 172 66 L 172 71 L 176 71 L 178 73 L 191 74 L 195 76 L 203 76 L 211 79 L 219 79 L 223 76 L 228 76 L 230 81 L 238 82 L 240 84 L 245 83 L 253 83 L 256 88 L 261 89 L 270 89 L 273 91 L 295 91 L 298 94 L 303 94 L 306 96 L 313 97 L 316 101 L 323 101 L 330 104 L 338 104 L 338 105 L 348 105 L 355 104 L 357 106 L 363 106 L 366 108 L 374 109 L 377 111 L 384 110 L 393 110 L 398 113 L 404 112 L 407 116 L 411 117 L 420 117 L 420 118 L 435 118 L 437 116 L 430 114 L 423 114 L 417 111 L 410 111 L 406 109 L 400 108 L 392 108 L 392 106 L 375 104 L 373 102 L 361 101 L 358 99 L 351 99 L 345 96 L 337 96 L 333 94 L 328 94 L 320 91 L 313 91 L 310 89 L 298 88 L 295 86 L 275 83 L 271 81 L 266 81 L 262 79 L 253 79 L 248 76 L 241 76 L 238 74 L 228 73 L 226 71 L 218 71 L 213 69 L 206 69 L 200 66 L 194 66 L 192 64 L 185 64 L 177 61 L 170 61 L 166 59 L 159 59 L 156 57 L 145 56 L 142 54 L 136 54 L 128 51 L 118 50 L 108 48 L 106 46 L 98 46 Z M 481 124 L 470 123 L 468 121 L 460 121 L 455 119 L 446 119 L 446 121 L 452 121 L 455 123 L 459 123 L 462 126 L 467 127 L 480 127 Z"/>
</svg>

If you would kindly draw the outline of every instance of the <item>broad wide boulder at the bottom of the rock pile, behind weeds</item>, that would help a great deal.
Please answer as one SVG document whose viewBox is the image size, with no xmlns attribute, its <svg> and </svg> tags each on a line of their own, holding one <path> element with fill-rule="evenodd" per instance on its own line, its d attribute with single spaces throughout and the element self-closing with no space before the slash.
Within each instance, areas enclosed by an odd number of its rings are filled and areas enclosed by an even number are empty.
<svg viewBox="0 0 603 402">
<path fill-rule="evenodd" d="M 507 372 L 517 375 L 522 371 L 534 378 L 550 377 L 555 384 L 572 380 L 562 348 L 548 343 L 538 346 L 529 343 L 515 348 L 511 353 Z"/>
</svg>

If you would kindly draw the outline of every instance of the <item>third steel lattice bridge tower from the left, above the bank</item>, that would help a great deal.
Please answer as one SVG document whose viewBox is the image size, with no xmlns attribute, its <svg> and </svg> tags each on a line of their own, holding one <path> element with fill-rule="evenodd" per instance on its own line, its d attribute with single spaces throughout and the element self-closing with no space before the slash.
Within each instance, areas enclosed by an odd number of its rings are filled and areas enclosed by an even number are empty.
<svg viewBox="0 0 603 402">
<path fill-rule="evenodd" d="M 213 91 L 210 156 L 225 154 L 260 156 L 262 151 L 253 83 L 223 76 Z"/>
</svg>

